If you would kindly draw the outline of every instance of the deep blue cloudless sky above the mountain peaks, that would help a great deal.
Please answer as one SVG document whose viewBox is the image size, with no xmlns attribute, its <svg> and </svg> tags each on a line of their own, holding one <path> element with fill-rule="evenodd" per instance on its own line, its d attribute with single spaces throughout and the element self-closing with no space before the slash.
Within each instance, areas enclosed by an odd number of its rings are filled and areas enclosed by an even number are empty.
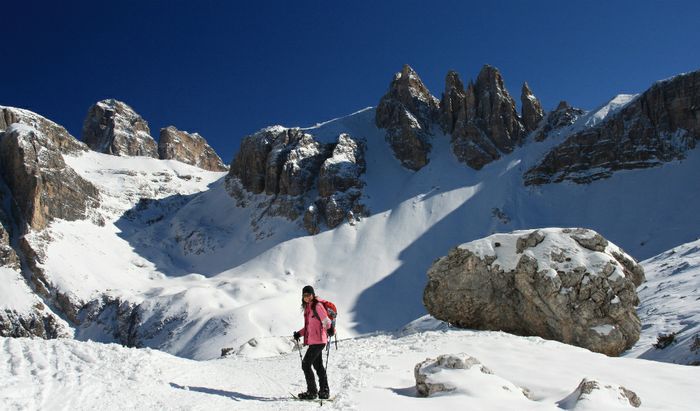
<svg viewBox="0 0 700 411">
<path fill-rule="evenodd" d="M 202 134 L 230 162 L 272 124 L 309 126 L 376 105 L 410 64 L 440 97 L 501 70 L 519 104 L 592 109 L 700 69 L 697 1 L 13 1 L 3 4 L 0 105 L 80 138 L 117 98 L 151 126 Z"/>
</svg>

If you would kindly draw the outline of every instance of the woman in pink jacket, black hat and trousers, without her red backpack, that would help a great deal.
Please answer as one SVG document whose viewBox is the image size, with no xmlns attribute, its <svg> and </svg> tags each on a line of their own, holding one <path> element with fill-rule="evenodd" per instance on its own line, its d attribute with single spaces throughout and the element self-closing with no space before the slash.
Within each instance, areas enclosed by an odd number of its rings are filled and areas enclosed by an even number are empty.
<svg viewBox="0 0 700 411">
<path fill-rule="evenodd" d="M 318 396 L 321 399 L 327 399 L 330 395 L 328 389 L 328 377 L 326 369 L 323 367 L 323 349 L 328 342 L 328 334 L 326 330 L 331 326 L 331 319 L 328 318 L 328 313 L 316 299 L 314 288 L 307 285 L 301 290 L 301 307 L 304 310 L 304 327 L 294 332 L 294 339 L 298 342 L 304 337 L 304 345 L 308 345 L 306 355 L 301 361 L 301 369 L 304 371 L 306 378 L 306 392 L 298 395 L 299 398 L 311 400 Z M 318 374 L 318 385 L 320 390 L 316 390 L 316 378 L 311 370 L 314 367 Z"/>
</svg>

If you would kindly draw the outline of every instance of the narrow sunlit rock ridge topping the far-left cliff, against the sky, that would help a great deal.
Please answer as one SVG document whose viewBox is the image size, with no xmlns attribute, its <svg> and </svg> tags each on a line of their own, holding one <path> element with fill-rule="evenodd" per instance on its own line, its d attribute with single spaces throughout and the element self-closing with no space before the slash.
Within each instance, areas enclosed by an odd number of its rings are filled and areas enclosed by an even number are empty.
<svg viewBox="0 0 700 411">
<path fill-rule="evenodd" d="M 70 135 L 62 126 L 29 110 L 0 106 L 0 131 L 6 130 L 12 124 L 24 124 L 39 131 L 63 154 L 74 154 L 87 151 L 88 147 Z"/>
</svg>

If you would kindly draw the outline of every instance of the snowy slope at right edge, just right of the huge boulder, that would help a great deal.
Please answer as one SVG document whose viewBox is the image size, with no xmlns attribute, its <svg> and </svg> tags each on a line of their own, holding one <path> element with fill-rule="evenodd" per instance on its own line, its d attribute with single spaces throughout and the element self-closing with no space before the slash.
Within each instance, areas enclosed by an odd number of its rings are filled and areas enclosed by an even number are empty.
<svg viewBox="0 0 700 411">
<path fill-rule="evenodd" d="M 643 332 L 628 356 L 700 365 L 700 240 L 642 262 L 647 282 L 639 289 L 637 310 Z M 673 343 L 654 348 L 659 335 Z"/>
</svg>

